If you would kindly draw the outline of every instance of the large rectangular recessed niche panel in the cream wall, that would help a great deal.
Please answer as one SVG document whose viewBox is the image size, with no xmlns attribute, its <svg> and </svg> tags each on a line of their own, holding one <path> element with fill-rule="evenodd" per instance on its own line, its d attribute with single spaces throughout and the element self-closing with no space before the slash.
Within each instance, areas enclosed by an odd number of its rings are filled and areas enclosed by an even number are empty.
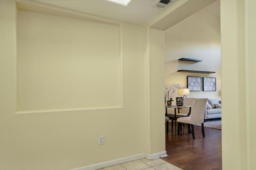
<svg viewBox="0 0 256 170">
<path fill-rule="evenodd" d="M 18 111 L 121 106 L 120 27 L 18 11 Z"/>
</svg>

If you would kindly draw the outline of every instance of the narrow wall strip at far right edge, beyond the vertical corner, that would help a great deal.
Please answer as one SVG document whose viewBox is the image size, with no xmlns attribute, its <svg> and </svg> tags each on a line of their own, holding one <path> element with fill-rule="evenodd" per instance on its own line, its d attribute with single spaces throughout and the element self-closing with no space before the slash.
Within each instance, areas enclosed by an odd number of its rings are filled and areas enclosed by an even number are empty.
<svg viewBox="0 0 256 170">
<path fill-rule="evenodd" d="M 249 141 L 250 145 L 247 146 L 247 151 L 249 152 L 249 167 L 253 169 L 256 167 L 256 125 L 255 125 L 255 119 L 256 115 L 256 108 L 254 107 L 255 104 L 255 95 L 256 92 L 254 90 L 255 84 L 256 84 L 256 78 L 255 78 L 255 63 L 256 63 L 256 23 L 255 23 L 255 17 L 256 17 L 256 2 L 254 0 L 248 0 L 246 1 L 246 130 L 248 131 L 248 137 L 246 138 L 247 141 Z"/>
</svg>

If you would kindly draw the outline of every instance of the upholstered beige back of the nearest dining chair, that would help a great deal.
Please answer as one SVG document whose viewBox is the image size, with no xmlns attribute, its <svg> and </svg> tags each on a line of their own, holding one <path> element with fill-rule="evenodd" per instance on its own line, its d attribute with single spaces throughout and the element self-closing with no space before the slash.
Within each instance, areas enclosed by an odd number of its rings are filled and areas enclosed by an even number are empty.
<svg viewBox="0 0 256 170">
<path fill-rule="evenodd" d="M 191 123 L 204 123 L 204 110 L 206 106 L 207 98 L 196 98 L 193 100 L 191 108 Z"/>
</svg>

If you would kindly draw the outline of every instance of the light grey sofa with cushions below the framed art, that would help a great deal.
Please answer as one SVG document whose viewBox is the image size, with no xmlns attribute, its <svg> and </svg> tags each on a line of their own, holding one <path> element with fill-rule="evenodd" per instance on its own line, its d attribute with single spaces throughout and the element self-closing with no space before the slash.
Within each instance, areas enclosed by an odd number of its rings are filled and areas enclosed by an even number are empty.
<svg viewBox="0 0 256 170">
<path fill-rule="evenodd" d="M 208 99 L 206 102 L 204 120 L 221 118 L 221 99 Z"/>
</svg>

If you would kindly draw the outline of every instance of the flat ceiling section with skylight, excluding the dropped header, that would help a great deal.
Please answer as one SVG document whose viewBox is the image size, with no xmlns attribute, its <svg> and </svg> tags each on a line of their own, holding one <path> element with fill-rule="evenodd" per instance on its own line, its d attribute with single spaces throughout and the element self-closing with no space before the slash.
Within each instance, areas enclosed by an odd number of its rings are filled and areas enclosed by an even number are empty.
<svg viewBox="0 0 256 170">
<path fill-rule="evenodd" d="M 131 0 L 127 6 L 107 0 L 36 1 L 139 25 L 146 25 L 149 21 L 163 12 L 163 10 L 152 7 L 157 0 Z"/>
</svg>

